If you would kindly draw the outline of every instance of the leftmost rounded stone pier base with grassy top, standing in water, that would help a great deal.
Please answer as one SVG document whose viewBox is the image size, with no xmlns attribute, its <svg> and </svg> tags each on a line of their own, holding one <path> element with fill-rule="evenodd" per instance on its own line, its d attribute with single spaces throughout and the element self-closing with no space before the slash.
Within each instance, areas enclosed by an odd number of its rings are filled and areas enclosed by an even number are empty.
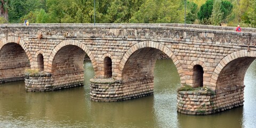
<svg viewBox="0 0 256 128">
<path fill-rule="evenodd" d="M 69 73 L 25 73 L 26 90 L 29 92 L 44 92 L 83 86 L 84 72 L 73 71 Z"/>
</svg>

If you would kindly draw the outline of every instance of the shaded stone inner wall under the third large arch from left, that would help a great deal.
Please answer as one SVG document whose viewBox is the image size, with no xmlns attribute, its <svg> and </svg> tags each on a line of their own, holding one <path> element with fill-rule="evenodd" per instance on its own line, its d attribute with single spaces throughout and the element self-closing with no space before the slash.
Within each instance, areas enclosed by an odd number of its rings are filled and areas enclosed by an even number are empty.
<svg viewBox="0 0 256 128">
<path fill-rule="evenodd" d="M 153 94 L 154 69 L 157 59 L 161 58 L 161 54 L 166 59 L 169 58 L 159 49 L 143 47 L 133 52 L 127 59 L 123 68 L 122 79 L 124 79 L 124 86 L 126 87 L 127 84 L 127 89 L 131 91 L 131 95 L 134 93 L 137 97 L 140 97 L 139 95 Z M 178 70 L 176 71 L 178 73 Z"/>
</svg>

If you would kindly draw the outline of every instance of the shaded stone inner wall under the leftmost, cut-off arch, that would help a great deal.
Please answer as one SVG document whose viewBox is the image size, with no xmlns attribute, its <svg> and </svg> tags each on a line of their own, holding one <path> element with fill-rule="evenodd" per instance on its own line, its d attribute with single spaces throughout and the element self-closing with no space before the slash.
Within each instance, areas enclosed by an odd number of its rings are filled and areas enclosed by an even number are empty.
<svg viewBox="0 0 256 128">
<path fill-rule="evenodd" d="M 23 80 L 25 70 L 30 69 L 28 56 L 17 43 L 3 45 L 0 50 L 0 62 L 0 81 L 4 82 Z"/>
</svg>

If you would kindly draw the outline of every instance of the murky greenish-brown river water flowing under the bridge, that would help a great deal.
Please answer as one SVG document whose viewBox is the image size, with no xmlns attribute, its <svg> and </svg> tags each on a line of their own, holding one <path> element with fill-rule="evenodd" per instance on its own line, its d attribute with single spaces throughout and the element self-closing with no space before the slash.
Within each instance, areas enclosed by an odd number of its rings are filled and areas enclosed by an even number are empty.
<svg viewBox="0 0 256 128">
<path fill-rule="evenodd" d="M 154 95 L 122 102 L 91 101 L 91 62 L 84 68 L 82 87 L 38 93 L 26 92 L 23 81 L 0 85 L 0 127 L 256 127 L 256 61 L 246 72 L 244 106 L 207 116 L 177 113 L 172 60 L 157 60 Z"/>
</svg>

